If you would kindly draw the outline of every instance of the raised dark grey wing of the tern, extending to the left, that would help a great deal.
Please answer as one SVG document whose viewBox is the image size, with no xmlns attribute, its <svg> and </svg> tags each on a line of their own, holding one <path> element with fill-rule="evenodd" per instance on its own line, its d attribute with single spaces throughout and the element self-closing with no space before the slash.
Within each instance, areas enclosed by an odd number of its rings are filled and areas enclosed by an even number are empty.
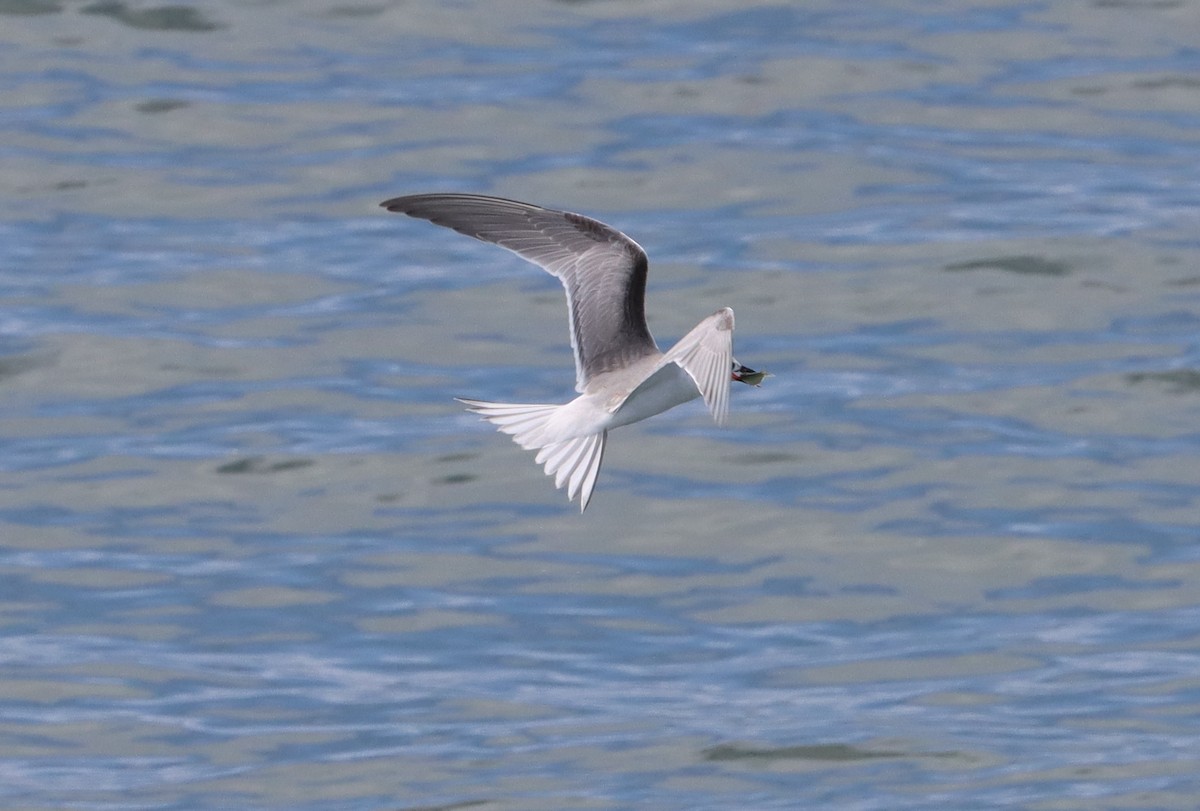
<svg viewBox="0 0 1200 811">
<path fill-rule="evenodd" d="M 481 194 L 413 194 L 383 208 L 494 242 L 557 276 L 566 289 L 575 383 L 658 352 L 646 326 L 642 247 L 619 230 L 566 211 Z"/>
</svg>

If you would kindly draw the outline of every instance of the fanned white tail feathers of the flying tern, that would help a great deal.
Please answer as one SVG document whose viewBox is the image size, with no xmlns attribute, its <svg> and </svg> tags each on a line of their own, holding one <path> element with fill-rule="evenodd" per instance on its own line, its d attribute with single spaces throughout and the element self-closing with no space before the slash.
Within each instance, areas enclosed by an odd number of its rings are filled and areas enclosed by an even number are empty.
<svg viewBox="0 0 1200 811">
<path fill-rule="evenodd" d="M 456 398 L 475 414 L 493 423 L 498 431 L 526 450 L 538 450 L 534 461 L 541 464 L 547 476 L 554 476 L 554 487 L 566 485 L 566 498 L 580 497 L 580 512 L 588 509 L 592 491 L 600 475 L 604 446 L 608 432 L 586 434 L 554 441 L 547 431 L 559 406 L 544 403 L 488 403 L 482 400 Z"/>
</svg>

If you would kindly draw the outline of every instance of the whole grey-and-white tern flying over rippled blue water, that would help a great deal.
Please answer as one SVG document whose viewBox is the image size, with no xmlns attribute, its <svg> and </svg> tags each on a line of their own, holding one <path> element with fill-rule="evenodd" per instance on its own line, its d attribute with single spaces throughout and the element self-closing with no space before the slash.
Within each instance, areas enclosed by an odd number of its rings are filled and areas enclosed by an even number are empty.
<svg viewBox="0 0 1200 811">
<path fill-rule="evenodd" d="M 568 500 L 580 499 L 581 513 L 592 500 L 610 431 L 697 397 L 724 426 L 731 383 L 757 386 L 767 377 L 733 358 L 730 307 L 661 352 L 646 324 L 646 251 L 599 220 L 466 193 L 409 194 L 379 205 L 498 245 L 563 283 L 578 397 L 560 404 L 455 400 L 536 451 L 554 487 L 565 485 Z"/>
</svg>

